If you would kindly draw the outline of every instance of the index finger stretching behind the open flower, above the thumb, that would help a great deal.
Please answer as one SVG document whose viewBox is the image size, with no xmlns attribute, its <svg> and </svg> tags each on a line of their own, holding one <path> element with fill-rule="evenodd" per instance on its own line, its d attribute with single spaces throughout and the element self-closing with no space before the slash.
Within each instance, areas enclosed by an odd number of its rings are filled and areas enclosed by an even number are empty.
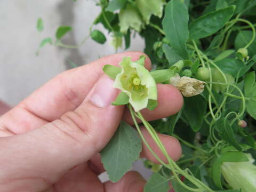
<svg viewBox="0 0 256 192">
<path fill-rule="evenodd" d="M 70 69 L 43 85 L 9 113 L 2 116 L 0 130 L 7 129 L 14 134 L 25 133 L 60 118 L 67 111 L 76 109 L 93 85 L 103 74 L 106 64 L 118 66 L 123 57 L 138 60 L 142 52 L 125 52 L 103 57 L 85 66 Z M 150 69 L 146 55 L 145 66 Z"/>
</svg>

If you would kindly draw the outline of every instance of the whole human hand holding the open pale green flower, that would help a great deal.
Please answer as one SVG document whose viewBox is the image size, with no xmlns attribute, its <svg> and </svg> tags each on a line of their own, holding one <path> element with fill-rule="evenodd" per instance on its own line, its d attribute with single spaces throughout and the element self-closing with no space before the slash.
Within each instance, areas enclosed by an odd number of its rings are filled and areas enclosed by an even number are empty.
<svg viewBox="0 0 256 192">
<path fill-rule="evenodd" d="M 117 66 L 127 56 L 137 60 L 141 54 L 114 54 L 67 70 L 1 116 L 1 191 L 142 191 L 146 181 L 134 171 L 116 183 L 98 179 L 105 171 L 99 151 L 121 119 L 132 124 L 129 110 L 111 106 L 118 90 L 103 74 L 102 66 Z M 145 66 L 150 69 L 148 58 Z M 182 95 L 172 85 L 158 84 L 157 89 L 158 107 L 142 110 L 150 121 L 177 113 L 183 104 Z M 158 157 L 167 162 L 143 128 L 142 133 Z M 163 134 L 159 138 L 177 161 L 181 155 L 179 141 Z M 145 146 L 141 157 L 157 163 Z"/>
</svg>

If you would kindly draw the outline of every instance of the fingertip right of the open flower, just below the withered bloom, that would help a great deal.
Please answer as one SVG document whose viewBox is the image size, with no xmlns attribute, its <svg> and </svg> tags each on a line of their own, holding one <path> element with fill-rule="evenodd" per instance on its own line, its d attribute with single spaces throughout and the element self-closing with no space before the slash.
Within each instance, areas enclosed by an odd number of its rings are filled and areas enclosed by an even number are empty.
<svg viewBox="0 0 256 192">
<path fill-rule="evenodd" d="M 178 113 L 183 105 L 183 97 L 176 87 L 169 84 L 157 84 L 157 92 L 158 106 L 152 111 L 148 109 L 141 110 L 143 117 L 147 121 L 174 115 Z M 127 108 L 124 111 L 123 119 L 129 124 L 134 124 Z M 141 122 L 139 119 L 137 120 Z"/>
</svg>

